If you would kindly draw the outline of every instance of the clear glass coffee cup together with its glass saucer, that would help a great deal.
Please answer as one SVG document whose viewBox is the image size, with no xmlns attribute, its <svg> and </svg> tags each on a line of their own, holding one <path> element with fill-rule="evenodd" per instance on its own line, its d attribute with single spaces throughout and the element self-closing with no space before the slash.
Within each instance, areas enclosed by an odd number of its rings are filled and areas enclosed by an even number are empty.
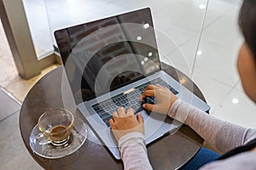
<svg viewBox="0 0 256 170">
<path fill-rule="evenodd" d="M 55 159 L 79 150 L 86 138 L 86 125 L 79 117 L 66 109 L 51 109 L 39 117 L 29 141 L 38 156 Z"/>
</svg>

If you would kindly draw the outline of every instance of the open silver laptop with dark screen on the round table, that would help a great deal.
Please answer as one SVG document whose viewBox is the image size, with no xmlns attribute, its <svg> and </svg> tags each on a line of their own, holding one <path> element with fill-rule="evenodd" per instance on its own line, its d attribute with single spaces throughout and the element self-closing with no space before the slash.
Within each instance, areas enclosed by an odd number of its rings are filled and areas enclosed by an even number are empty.
<svg viewBox="0 0 256 170">
<path fill-rule="evenodd" d="M 119 107 L 142 114 L 145 144 L 174 132 L 182 124 L 143 110 L 138 99 L 149 84 L 169 88 L 177 98 L 201 111 L 210 110 L 209 105 L 161 70 L 150 8 L 62 28 L 55 31 L 55 40 L 79 111 L 117 160 L 118 144 L 108 121 Z"/>
</svg>

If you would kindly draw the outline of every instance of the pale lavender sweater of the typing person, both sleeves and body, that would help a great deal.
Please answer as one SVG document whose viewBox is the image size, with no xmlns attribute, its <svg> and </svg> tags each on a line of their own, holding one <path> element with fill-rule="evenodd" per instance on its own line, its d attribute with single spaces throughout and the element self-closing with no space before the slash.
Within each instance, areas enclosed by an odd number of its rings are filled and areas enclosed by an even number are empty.
<svg viewBox="0 0 256 170">
<path fill-rule="evenodd" d="M 221 121 L 179 99 L 172 105 L 168 115 L 189 125 L 203 139 L 206 139 L 217 150 L 222 152 L 246 144 L 256 138 L 255 129 Z M 140 135 L 138 133 L 129 133 L 119 139 L 119 150 L 125 169 L 152 169 L 148 161 L 145 144 L 142 142 L 143 136 Z M 247 154 L 253 156 L 253 159 L 248 159 Z M 247 167 L 256 167 L 255 159 L 256 154 L 246 152 L 223 161 L 213 161 L 201 169 L 227 169 L 230 166 L 243 167 L 245 163 Z"/>
</svg>

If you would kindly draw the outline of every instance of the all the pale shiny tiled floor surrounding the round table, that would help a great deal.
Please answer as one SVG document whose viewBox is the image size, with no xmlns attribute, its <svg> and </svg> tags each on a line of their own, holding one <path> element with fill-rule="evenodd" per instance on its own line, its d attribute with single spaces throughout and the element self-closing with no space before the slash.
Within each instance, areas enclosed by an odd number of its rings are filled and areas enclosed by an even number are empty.
<svg viewBox="0 0 256 170">
<path fill-rule="evenodd" d="M 23 2 L 29 15 L 28 20 L 38 55 L 52 50 L 53 41 L 50 32 L 57 28 L 149 6 L 152 8 L 154 26 L 158 34 L 161 59 L 176 66 L 194 80 L 212 106 L 213 116 L 243 126 L 256 127 L 255 104 L 243 93 L 236 72 L 236 54 L 242 42 L 237 26 L 241 0 L 209 0 L 199 47 L 197 44 L 207 0 L 129 0 L 129 2 L 127 0 L 24 0 Z M 44 8 L 47 8 L 48 13 Z M 37 24 L 38 18 L 41 19 L 41 24 Z M 28 89 L 42 76 L 30 81 L 21 80 L 15 70 L 1 25 L 0 39 L 0 67 L 4 68 L 0 72 L 0 85 L 4 88 L 4 90 L 0 89 L 0 129 L 5 129 L 0 133 L 0 169 L 40 169 L 41 167 L 27 153 L 20 139 L 18 127 L 20 105 L 3 91 L 9 91 L 16 99 L 22 101 Z M 54 68 L 55 66 L 49 70 Z M 13 161 L 19 161 L 22 167 L 15 167 Z"/>
</svg>

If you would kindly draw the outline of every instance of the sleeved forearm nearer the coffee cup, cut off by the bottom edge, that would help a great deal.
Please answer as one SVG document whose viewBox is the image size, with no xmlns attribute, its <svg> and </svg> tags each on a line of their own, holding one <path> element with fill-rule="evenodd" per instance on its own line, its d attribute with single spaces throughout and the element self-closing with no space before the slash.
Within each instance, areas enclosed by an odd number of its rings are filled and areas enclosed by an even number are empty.
<svg viewBox="0 0 256 170">
<path fill-rule="evenodd" d="M 128 133 L 119 139 L 119 150 L 126 169 L 150 170 L 147 148 L 142 133 Z"/>
</svg>

